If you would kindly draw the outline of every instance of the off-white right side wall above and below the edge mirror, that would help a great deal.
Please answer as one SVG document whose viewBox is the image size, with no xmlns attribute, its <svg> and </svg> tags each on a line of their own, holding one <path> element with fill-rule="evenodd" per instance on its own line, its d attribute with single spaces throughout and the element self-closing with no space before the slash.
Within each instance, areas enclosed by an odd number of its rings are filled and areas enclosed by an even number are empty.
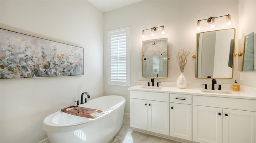
<svg viewBox="0 0 256 143">
<path fill-rule="evenodd" d="M 256 0 L 239 0 L 238 38 L 252 32 L 254 32 L 254 72 L 242 72 L 243 80 L 239 82 L 242 85 L 256 88 Z"/>
</svg>

